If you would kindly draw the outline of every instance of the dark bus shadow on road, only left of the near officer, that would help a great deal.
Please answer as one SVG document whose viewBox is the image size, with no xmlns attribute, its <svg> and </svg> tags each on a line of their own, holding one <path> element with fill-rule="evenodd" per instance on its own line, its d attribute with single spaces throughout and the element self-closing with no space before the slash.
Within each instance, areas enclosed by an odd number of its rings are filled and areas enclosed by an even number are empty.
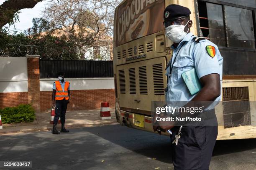
<svg viewBox="0 0 256 170">
<path fill-rule="evenodd" d="M 88 132 L 148 158 L 172 163 L 170 138 L 167 136 L 121 125 L 105 126 L 104 130 L 100 127 L 88 128 Z"/>
</svg>

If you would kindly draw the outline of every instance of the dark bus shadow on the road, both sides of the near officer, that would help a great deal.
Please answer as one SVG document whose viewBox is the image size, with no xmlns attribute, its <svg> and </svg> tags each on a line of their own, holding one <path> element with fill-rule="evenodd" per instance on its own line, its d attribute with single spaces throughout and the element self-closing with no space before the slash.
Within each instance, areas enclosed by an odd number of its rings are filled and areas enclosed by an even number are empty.
<svg viewBox="0 0 256 170">
<path fill-rule="evenodd" d="M 170 149 L 171 144 L 169 137 L 159 136 L 154 133 L 135 130 L 120 125 L 112 125 L 108 128 L 115 129 L 115 137 L 119 138 L 119 140 L 112 138 L 112 135 L 109 135 L 108 133 L 98 133 L 95 135 L 98 135 L 112 143 L 132 150 L 138 154 L 145 155 L 149 158 L 157 158 L 157 160 L 160 160 L 164 163 L 172 163 Z M 129 130 L 125 130 L 123 128 L 128 128 Z M 93 129 L 94 130 L 91 130 L 90 128 L 88 131 L 93 133 L 95 132 L 95 128 Z M 122 132 L 122 130 L 124 131 Z M 99 131 L 101 131 L 100 128 Z M 110 131 L 112 132 L 112 130 Z M 140 143 L 141 145 L 137 145 L 137 143 Z M 218 140 L 216 141 L 212 156 L 237 153 L 246 150 L 252 150 L 254 148 L 256 149 L 256 139 Z"/>
</svg>

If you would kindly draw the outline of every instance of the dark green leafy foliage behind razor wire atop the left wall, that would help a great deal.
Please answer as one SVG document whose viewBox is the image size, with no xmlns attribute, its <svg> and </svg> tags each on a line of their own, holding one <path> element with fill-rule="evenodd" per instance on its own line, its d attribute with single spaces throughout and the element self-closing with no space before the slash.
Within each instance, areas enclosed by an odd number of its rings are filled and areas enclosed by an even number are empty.
<svg viewBox="0 0 256 170">
<path fill-rule="evenodd" d="M 40 55 L 41 60 L 81 60 L 76 39 L 54 35 L 49 22 L 34 18 L 33 26 L 24 33 L 0 31 L 0 56 Z"/>
</svg>

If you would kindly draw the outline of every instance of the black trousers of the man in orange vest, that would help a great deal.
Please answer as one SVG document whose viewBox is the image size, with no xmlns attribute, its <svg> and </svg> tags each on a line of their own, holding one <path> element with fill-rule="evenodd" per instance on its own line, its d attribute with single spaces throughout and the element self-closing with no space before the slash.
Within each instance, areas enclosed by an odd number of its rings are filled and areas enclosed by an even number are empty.
<svg viewBox="0 0 256 170">
<path fill-rule="evenodd" d="M 67 111 L 67 100 L 56 100 L 54 124 L 58 123 L 59 117 L 61 117 L 61 124 L 65 123 L 65 115 Z"/>
</svg>

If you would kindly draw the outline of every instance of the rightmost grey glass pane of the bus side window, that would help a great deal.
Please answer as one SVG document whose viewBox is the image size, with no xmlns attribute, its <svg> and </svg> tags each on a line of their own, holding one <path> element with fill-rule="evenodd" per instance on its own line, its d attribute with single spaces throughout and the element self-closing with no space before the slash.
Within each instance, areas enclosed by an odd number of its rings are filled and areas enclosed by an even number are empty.
<svg viewBox="0 0 256 170">
<path fill-rule="evenodd" d="M 225 6 L 228 47 L 255 48 L 252 11 Z"/>
</svg>

